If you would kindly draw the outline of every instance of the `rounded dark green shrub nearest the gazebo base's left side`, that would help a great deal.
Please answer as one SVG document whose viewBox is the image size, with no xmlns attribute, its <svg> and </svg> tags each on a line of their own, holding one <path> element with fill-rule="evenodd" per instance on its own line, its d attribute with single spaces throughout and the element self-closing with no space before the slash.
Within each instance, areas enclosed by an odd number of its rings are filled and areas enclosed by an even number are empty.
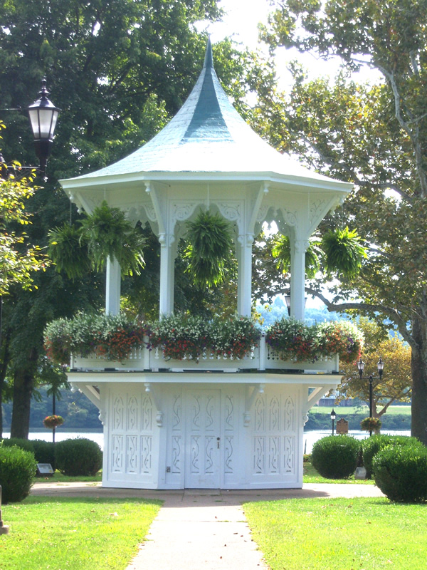
<svg viewBox="0 0 427 570">
<path fill-rule="evenodd" d="M 102 451 L 84 437 L 60 441 L 55 447 L 55 463 L 63 475 L 95 475 L 102 465 Z"/>
</svg>

